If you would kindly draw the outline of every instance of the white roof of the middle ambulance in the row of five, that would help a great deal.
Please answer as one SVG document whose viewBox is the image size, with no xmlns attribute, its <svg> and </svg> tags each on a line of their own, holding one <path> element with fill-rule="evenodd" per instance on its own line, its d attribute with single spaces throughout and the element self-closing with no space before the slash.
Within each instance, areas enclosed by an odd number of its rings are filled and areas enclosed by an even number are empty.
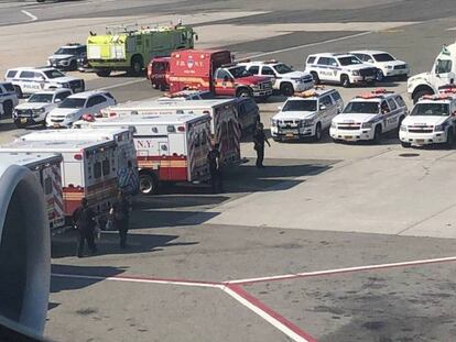
<svg viewBox="0 0 456 342">
<path fill-rule="evenodd" d="M 21 136 L 24 141 L 107 141 L 117 134 L 122 134 L 128 129 L 106 128 L 106 129 L 72 129 L 72 130 L 46 130 L 29 133 Z"/>
</svg>

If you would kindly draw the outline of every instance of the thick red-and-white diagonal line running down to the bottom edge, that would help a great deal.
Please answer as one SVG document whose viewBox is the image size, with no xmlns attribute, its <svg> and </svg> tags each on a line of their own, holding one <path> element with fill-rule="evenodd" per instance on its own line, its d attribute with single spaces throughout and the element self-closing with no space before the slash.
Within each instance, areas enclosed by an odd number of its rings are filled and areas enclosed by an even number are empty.
<svg viewBox="0 0 456 342">
<path fill-rule="evenodd" d="M 243 306 L 248 307 L 254 313 L 267 320 L 269 323 L 274 326 L 276 329 L 285 333 L 293 341 L 297 342 L 317 342 L 311 334 L 293 324 L 279 312 L 272 310 L 265 304 L 260 301 L 257 297 L 246 291 L 239 285 L 227 285 L 224 291 L 230 295 L 232 298 L 238 300 Z"/>
</svg>

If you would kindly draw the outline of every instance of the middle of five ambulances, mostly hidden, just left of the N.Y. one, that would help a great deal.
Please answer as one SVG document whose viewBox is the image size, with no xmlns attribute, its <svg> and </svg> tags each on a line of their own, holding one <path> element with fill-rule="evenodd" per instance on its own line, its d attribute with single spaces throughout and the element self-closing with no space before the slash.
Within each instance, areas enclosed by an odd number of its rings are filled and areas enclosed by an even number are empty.
<svg viewBox="0 0 456 342">
<path fill-rule="evenodd" d="M 24 141 L 110 141 L 117 144 L 117 176 L 119 189 L 127 195 L 139 192 L 137 150 L 133 128 L 47 130 L 21 136 Z"/>
</svg>

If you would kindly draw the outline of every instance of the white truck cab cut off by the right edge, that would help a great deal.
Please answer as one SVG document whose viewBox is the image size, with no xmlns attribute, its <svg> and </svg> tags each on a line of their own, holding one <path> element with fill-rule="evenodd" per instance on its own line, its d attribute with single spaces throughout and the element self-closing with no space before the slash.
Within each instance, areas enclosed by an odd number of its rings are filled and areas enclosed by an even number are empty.
<svg viewBox="0 0 456 342">
<path fill-rule="evenodd" d="M 435 58 L 428 73 L 417 74 L 409 78 L 408 92 L 416 103 L 426 95 L 437 95 L 438 88 L 454 84 L 456 79 L 456 43 L 444 45 Z"/>
</svg>

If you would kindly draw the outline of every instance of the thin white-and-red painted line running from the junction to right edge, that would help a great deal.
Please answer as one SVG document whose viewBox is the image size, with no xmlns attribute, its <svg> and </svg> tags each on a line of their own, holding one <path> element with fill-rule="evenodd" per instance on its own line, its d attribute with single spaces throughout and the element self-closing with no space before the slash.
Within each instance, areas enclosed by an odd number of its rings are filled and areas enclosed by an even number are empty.
<svg viewBox="0 0 456 342">
<path fill-rule="evenodd" d="M 427 260 L 391 263 L 391 264 L 380 264 L 380 265 L 355 266 L 355 267 L 336 268 L 336 269 L 327 269 L 327 271 L 304 272 L 304 273 L 285 274 L 285 275 L 270 276 L 270 277 L 238 279 L 238 280 L 227 282 L 226 284 L 247 285 L 247 284 L 253 284 L 253 283 L 276 282 L 276 280 L 286 280 L 286 279 L 325 276 L 325 275 L 336 275 L 336 274 L 343 274 L 343 273 L 354 273 L 354 272 L 384 269 L 384 268 L 394 268 L 394 267 L 411 267 L 411 266 L 439 264 L 439 263 L 448 263 L 448 262 L 456 262 L 456 256 L 427 258 Z"/>
</svg>

